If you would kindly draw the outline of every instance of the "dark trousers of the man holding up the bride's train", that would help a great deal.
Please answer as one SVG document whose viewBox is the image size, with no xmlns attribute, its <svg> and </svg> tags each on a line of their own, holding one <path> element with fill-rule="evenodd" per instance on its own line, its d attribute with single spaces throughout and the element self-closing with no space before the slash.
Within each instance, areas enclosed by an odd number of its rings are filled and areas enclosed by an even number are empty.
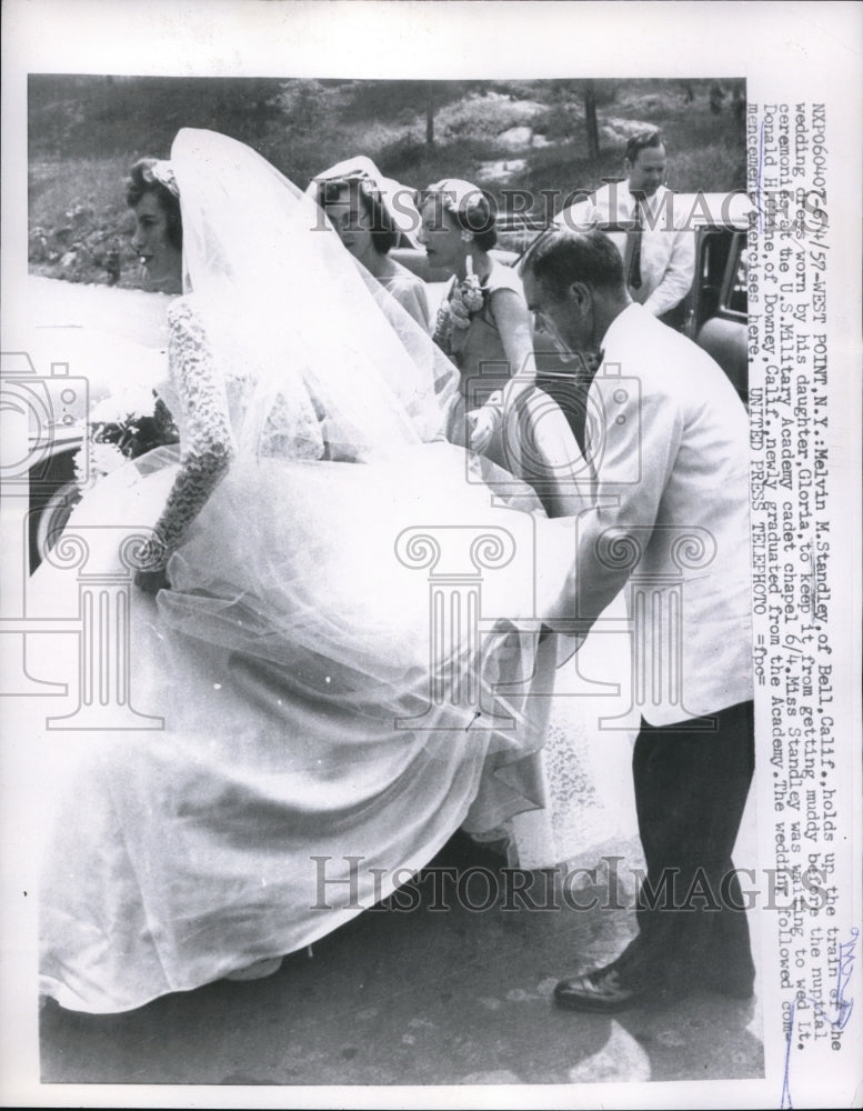
<svg viewBox="0 0 863 1111">
<path fill-rule="evenodd" d="M 754 767 L 752 702 L 674 725 L 642 720 L 632 765 L 648 875 L 639 933 L 611 968 L 638 991 L 749 995 L 755 969 L 731 852 Z"/>
</svg>

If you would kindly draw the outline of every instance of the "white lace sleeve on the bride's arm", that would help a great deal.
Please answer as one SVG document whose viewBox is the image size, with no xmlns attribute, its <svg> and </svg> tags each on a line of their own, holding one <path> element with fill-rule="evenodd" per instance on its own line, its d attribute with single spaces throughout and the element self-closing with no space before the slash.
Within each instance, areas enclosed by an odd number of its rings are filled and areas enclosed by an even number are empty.
<svg viewBox="0 0 863 1111">
<path fill-rule="evenodd" d="M 169 366 L 180 401 L 183 454 L 154 536 L 138 556 L 139 567 L 147 571 L 167 564 L 234 454 L 224 380 L 187 299 L 173 302 L 168 323 Z"/>
</svg>

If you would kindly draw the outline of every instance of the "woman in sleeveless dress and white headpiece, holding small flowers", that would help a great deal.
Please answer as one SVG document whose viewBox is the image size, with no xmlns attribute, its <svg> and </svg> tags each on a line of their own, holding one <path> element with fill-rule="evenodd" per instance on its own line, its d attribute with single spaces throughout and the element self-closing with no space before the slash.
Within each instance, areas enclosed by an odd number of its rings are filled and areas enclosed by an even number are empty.
<svg viewBox="0 0 863 1111">
<path fill-rule="evenodd" d="M 535 388 L 521 279 L 489 253 L 498 241 L 492 202 L 446 178 L 423 192 L 420 213 L 431 267 L 452 274 L 433 334 L 460 373 L 449 438 L 534 486 L 550 517 L 576 512 L 573 489 L 546 481 L 578 470 L 581 454 L 556 402 Z"/>
</svg>

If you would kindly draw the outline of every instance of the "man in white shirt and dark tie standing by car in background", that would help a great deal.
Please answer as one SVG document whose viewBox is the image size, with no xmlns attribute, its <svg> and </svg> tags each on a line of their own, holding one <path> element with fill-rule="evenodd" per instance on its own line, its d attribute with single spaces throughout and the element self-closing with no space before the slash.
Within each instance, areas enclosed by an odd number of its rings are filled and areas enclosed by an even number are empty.
<svg viewBox="0 0 863 1111">
<path fill-rule="evenodd" d="M 662 132 L 640 131 L 626 143 L 625 180 L 608 182 L 555 219 L 571 230 L 630 226 L 629 234 L 614 241 L 623 254 L 630 297 L 654 317 L 676 309 L 695 276 L 695 234 L 685 227 L 688 212 L 675 212 L 674 193 L 664 186 L 666 166 Z"/>
</svg>

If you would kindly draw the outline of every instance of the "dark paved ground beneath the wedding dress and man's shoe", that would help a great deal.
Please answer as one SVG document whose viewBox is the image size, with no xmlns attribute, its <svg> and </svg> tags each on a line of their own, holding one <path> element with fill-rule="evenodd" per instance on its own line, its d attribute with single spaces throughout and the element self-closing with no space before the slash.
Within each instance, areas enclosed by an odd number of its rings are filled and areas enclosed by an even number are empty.
<svg viewBox="0 0 863 1111">
<path fill-rule="evenodd" d="M 621 843 L 620 851 L 632 855 L 638 847 Z M 76 1015 L 49 1003 L 43 1082 L 561 1084 L 763 1075 L 757 997 L 693 994 L 674 1008 L 650 1004 L 614 1018 L 554 1005 L 561 974 L 610 959 L 629 940 L 631 911 L 504 910 L 503 881 L 488 880 L 500 877 L 494 860 L 461 837 L 435 863 L 462 875 L 474 869 L 463 891 L 475 905 L 496 882 L 495 904 L 470 911 L 443 883 L 448 909 L 432 911 L 427 884 L 418 909 L 367 912 L 265 980 L 220 981 L 126 1015 Z M 486 875 L 478 871 L 486 865 Z M 592 893 L 578 898 L 586 903 Z M 540 904 L 555 901 L 540 887 L 534 894 Z"/>
</svg>

